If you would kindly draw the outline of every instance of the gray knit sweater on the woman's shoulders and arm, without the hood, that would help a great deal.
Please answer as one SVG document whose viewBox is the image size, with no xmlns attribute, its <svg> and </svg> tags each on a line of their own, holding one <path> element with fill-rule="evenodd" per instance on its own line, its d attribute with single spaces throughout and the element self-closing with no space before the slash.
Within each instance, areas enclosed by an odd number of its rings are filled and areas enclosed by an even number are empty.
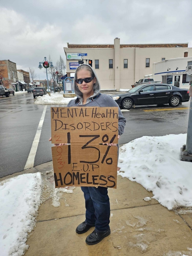
<svg viewBox="0 0 192 256">
<path fill-rule="evenodd" d="M 76 107 L 76 108 L 82 108 L 82 107 L 118 107 L 118 134 L 123 134 L 126 119 L 122 115 L 121 110 L 118 106 L 118 104 L 114 101 L 114 99 L 106 94 L 101 94 L 97 99 L 94 101 L 91 101 L 84 105 L 76 105 L 75 99 L 72 99 L 68 105 L 68 107 Z"/>
</svg>

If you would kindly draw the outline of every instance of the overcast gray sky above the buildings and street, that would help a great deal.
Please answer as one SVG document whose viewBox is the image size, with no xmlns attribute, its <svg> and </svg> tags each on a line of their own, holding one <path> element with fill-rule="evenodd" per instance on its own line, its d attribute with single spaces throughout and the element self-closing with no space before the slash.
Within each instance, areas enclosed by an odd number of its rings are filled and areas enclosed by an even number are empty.
<svg viewBox="0 0 192 256">
<path fill-rule="evenodd" d="M 0 10 L 0 60 L 34 67 L 40 79 L 39 61 L 65 60 L 67 42 L 192 47 L 192 0 L 0 0 Z"/>
</svg>

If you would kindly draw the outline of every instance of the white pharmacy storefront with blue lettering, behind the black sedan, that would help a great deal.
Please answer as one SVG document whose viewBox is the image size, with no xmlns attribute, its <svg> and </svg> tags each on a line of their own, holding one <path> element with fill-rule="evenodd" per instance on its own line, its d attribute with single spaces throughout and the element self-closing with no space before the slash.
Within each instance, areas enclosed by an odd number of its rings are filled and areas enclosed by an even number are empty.
<svg viewBox="0 0 192 256">
<path fill-rule="evenodd" d="M 153 64 L 153 78 L 174 85 L 179 88 L 189 89 L 189 82 L 186 82 L 185 69 L 192 57 L 183 57 L 170 60 L 163 60 Z"/>
</svg>

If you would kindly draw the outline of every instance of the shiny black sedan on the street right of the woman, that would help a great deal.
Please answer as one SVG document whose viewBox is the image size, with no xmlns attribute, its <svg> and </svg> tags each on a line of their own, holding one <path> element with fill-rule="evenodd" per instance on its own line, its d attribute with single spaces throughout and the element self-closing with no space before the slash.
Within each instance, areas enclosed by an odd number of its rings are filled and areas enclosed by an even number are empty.
<svg viewBox="0 0 192 256">
<path fill-rule="evenodd" d="M 190 98 L 188 89 L 163 83 L 138 85 L 127 92 L 114 94 L 112 97 L 124 109 L 130 109 L 133 105 L 169 104 L 177 107 L 181 102 L 189 101 Z"/>
</svg>

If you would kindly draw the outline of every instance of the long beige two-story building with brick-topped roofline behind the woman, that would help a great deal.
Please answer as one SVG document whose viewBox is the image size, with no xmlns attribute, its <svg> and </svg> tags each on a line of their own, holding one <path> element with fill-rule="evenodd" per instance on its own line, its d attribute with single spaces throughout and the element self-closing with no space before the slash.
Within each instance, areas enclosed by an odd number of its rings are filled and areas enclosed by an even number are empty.
<svg viewBox="0 0 192 256">
<path fill-rule="evenodd" d="M 145 75 L 153 73 L 153 63 L 158 61 L 192 56 L 188 43 L 178 44 L 128 44 L 121 45 L 120 38 L 114 44 L 79 45 L 69 44 L 64 47 L 67 76 L 74 73 L 78 61 L 93 61 L 101 89 L 128 89 Z M 84 54 L 83 57 L 80 55 Z M 88 63 L 88 61 L 87 61 Z"/>
</svg>

